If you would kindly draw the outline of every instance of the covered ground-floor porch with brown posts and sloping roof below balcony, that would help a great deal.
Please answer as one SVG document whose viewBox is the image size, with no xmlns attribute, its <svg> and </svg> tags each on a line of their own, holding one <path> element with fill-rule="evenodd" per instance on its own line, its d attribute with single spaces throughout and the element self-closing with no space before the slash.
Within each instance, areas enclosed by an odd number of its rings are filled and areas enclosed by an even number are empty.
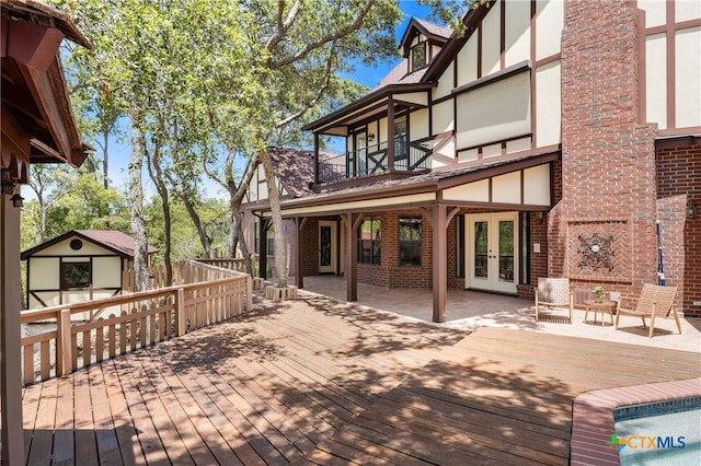
<svg viewBox="0 0 701 466">
<path fill-rule="evenodd" d="M 530 295 L 533 278 L 548 275 L 543 260 L 548 229 L 544 219 L 556 199 L 553 178 L 559 176 L 559 160 L 556 149 L 522 153 L 518 158 L 497 156 L 411 178 L 285 200 L 281 213 L 295 222 L 296 236 L 297 269 L 290 270 L 290 275 L 298 278 L 297 286 L 303 289 L 308 276 L 343 273 L 347 279 L 345 300 L 354 302 L 358 299 L 358 283 L 368 281 L 360 273 L 379 271 L 386 281 L 399 281 L 402 273 L 421 273 L 421 286 L 411 287 L 433 290 L 430 321 L 436 323 L 452 318 L 446 311 L 449 288 Z M 265 249 L 271 212 L 263 208 L 256 215 L 261 219 L 258 243 Z M 379 223 L 387 221 L 382 224 L 392 226 L 387 230 L 382 226 L 381 238 L 374 241 L 390 253 L 368 261 L 365 249 L 359 251 L 360 243 L 364 248 L 369 247 L 367 238 L 359 237 L 359 230 L 366 226 L 367 219 L 378 215 L 388 217 Z M 398 257 L 399 233 L 392 222 L 400 222 L 400 215 L 423 222 L 421 260 L 409 266 L 413 268 L 406 268 Z M 333 232 L 329 233 L 327 245 L 319 244 L 322 222 L 331 223 L 329 231 Z M 507 226 L 504 236 L 502 226 Z M 487 230 L 497 234 L 490 233 L 487 238 Z M 479 244 L 474 240 L 478 236 Z M 338 265 L 323 270 L 320 251 L 326 248 L 340 259 Z M 531 254 L 540 255 L 532 260 L 537 266 L 531 265 Z M 379 267 L 368 271 L 368 265 Z M 262 255 L 261 270 L 266 267 L 267 258 Z"/>
</svg>

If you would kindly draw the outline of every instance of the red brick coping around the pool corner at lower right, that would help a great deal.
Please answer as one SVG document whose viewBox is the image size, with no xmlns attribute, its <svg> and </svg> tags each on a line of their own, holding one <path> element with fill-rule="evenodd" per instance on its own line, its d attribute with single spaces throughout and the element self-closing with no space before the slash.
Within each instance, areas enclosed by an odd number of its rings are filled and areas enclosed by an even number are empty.
<svg viewBox="0 0 701 466">
<path fill-rule="evenodd" d="M 616 432 L 613 409 L 701 396 L 701 377 L 583 393 L 574 400 L 571 465 L 619 465 L 618 448 L 607 443 Z"/>
</svg>

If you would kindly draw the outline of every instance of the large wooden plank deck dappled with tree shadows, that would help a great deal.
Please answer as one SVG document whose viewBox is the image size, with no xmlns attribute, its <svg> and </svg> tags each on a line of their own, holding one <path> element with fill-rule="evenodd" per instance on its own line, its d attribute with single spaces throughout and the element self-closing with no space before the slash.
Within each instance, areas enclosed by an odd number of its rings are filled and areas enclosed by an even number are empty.
<svg viewBox="0 0 701 466">
<path fill-rule="evenodd" d="M 25 388 L 28 464 L 566 464 L 576 395 L 701 376 L 698 353 L 307 296 Z"/>
</svg>

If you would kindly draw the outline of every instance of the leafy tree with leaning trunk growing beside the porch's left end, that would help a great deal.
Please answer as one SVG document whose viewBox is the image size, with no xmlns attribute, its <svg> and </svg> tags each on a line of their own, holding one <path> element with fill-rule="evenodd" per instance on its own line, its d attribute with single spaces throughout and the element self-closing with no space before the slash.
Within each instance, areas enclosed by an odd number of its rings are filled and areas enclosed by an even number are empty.
<svg viewBox="0 0 701 466">
<path fill-rule="evenodd" d="M 371 62 L 394 53 L 394 1 L 246 2 L 242 22 L 255 46 L 251 63 L 261 90 L 251 145 L 265 172 L 275 232 L 277 286 L 288 286 L 283 217 L 268 142 L 302 121 L 329 94 L 342 89 L 337 73 L 354 60 Z"/>
</svg>

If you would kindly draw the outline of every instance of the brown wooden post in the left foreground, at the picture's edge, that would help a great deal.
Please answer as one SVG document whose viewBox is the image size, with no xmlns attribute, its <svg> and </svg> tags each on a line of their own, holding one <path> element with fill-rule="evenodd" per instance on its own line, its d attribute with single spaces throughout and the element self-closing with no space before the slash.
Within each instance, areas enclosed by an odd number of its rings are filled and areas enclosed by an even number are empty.
<svg viewBox="0 0 701 466">
<path fill-rule="evenodd" d="M 0 194 L 0 398 L 2 457 L 24 464 L 22 371 L 20 364 L 20 209 Z"/>
</svg>

